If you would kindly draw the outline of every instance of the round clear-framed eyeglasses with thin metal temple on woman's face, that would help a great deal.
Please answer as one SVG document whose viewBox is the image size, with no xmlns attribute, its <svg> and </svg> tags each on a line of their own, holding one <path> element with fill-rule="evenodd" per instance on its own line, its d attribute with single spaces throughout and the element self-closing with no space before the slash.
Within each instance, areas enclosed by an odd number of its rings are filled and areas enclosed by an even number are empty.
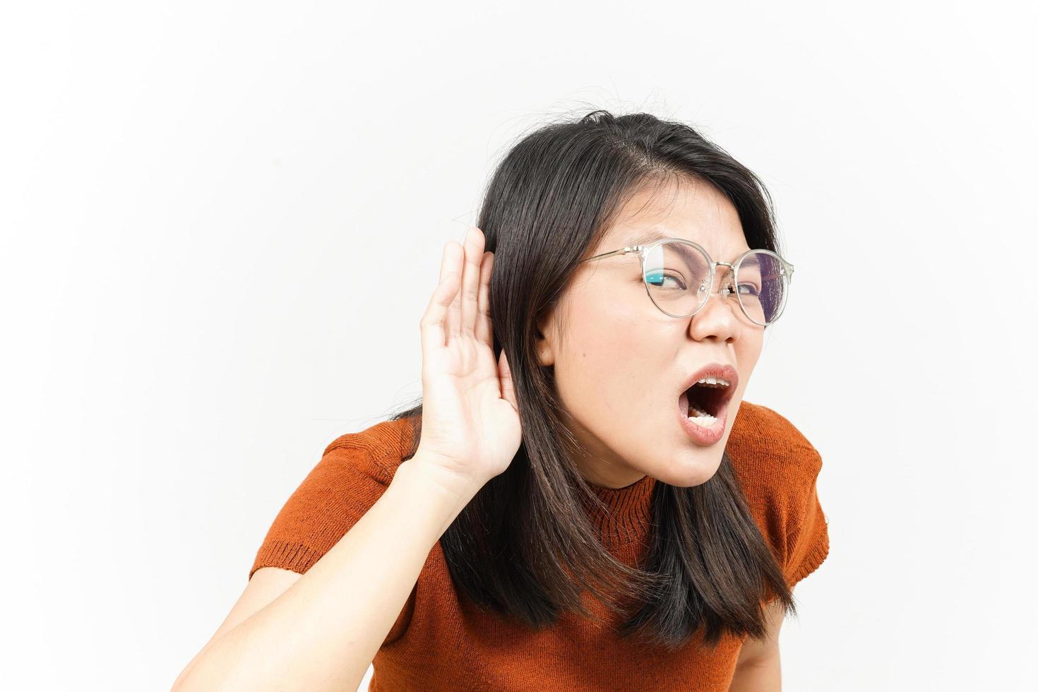
<svg viewBox="0 0 1038 692">
<path fill-rule="evenodd" d="M 628 252 L 638 253 L 646 293 L 656 307 L 672 317 L 690 317 L 707 304 L 718 266 L 727 267 L 725 274 L 731 272 L 735 278 L 734 282 L 722 283 L 718 295 L 727 298 L 735 294 L 743 314 L 755 325 L 773 325 L 786 309 L 793 265 L 770 250 L 747 250 L 734 262 L 714 261 L 698 243 L 662 238 L 649 245 L 629 245 L 582 261 Z"/>
</svg>

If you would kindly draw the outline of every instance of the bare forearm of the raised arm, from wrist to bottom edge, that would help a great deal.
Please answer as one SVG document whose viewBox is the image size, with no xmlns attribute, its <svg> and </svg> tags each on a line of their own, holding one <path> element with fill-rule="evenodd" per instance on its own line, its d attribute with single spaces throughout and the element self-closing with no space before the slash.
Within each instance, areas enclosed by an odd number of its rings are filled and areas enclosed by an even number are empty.
<svg viewBox="0 0 1038 692">
<path fill-rule="evenodd" d="M 429 552 L 477 491 L 415 456 L 318 562 L 217 639 L 175 688 L 344 690 L 360 685 Z"/>
</svg>

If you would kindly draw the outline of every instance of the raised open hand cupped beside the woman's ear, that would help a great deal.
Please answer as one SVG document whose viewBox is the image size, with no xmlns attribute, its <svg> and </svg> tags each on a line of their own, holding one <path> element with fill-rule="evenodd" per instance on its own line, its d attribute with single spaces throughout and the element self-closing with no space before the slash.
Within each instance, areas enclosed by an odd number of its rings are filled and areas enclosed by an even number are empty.
<svg viewBox="0 0 1038 692">
<path fill-rule="evenodd" d="M 482 487 L 504 471 L 522 440 L 508 357 L 490 327 L 494 254 L 472 227 L 443 247 L 440 278 L 421 317 L 421 439 L 415 459 Z"/>
</svg>

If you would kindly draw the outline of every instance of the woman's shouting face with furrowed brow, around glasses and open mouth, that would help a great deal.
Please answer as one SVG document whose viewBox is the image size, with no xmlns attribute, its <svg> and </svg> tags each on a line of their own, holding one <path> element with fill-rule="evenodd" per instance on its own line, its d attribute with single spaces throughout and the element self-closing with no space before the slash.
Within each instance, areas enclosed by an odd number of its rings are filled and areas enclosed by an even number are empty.
<svg viewBox="0 0 1038 692">
<path fill-rule="evenodd" d="M 734 262 L 749 249 L 732 203 L 709 184 L 682 179 L 635 195 L 586 256 L 653 231 L 694 241 L 715 261 Z M 735 296 L 718 294 L 721 277 L 731 278 L 727 270 L 717 268 L 706 305 L 679 320 L 649 298 L 637 254 L 582 262 L 539 321 L 538 357 L 554 366 L 570 430 L 590 451 L 577 460 L 590 482 L 623 488 L 651 475 L 685 488 L 717 471 L 764 338 Z M 738 375 L 714 443 L 689 435 L 679 412 L 689 378 L 708 363 L 732 365 Z"/>
</svg>

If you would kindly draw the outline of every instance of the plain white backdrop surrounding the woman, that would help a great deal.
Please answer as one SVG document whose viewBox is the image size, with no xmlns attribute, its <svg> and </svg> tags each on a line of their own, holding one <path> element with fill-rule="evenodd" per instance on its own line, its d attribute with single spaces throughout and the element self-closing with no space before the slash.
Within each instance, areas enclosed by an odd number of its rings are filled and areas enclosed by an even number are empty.
<svg viewBox="0 0 1038 692">
<path fill-rule="evenodd" d="M 508 146 L 602 107 L 760 174 L 796 266 L 745 396 L 823 459 L 784 689 L 1033 689 L 1036 28 L 1023 2 L 6 7 L 4 687 L 168 689 L 324 446 L 420 393 L 442 246 Z"/>
</svg>

